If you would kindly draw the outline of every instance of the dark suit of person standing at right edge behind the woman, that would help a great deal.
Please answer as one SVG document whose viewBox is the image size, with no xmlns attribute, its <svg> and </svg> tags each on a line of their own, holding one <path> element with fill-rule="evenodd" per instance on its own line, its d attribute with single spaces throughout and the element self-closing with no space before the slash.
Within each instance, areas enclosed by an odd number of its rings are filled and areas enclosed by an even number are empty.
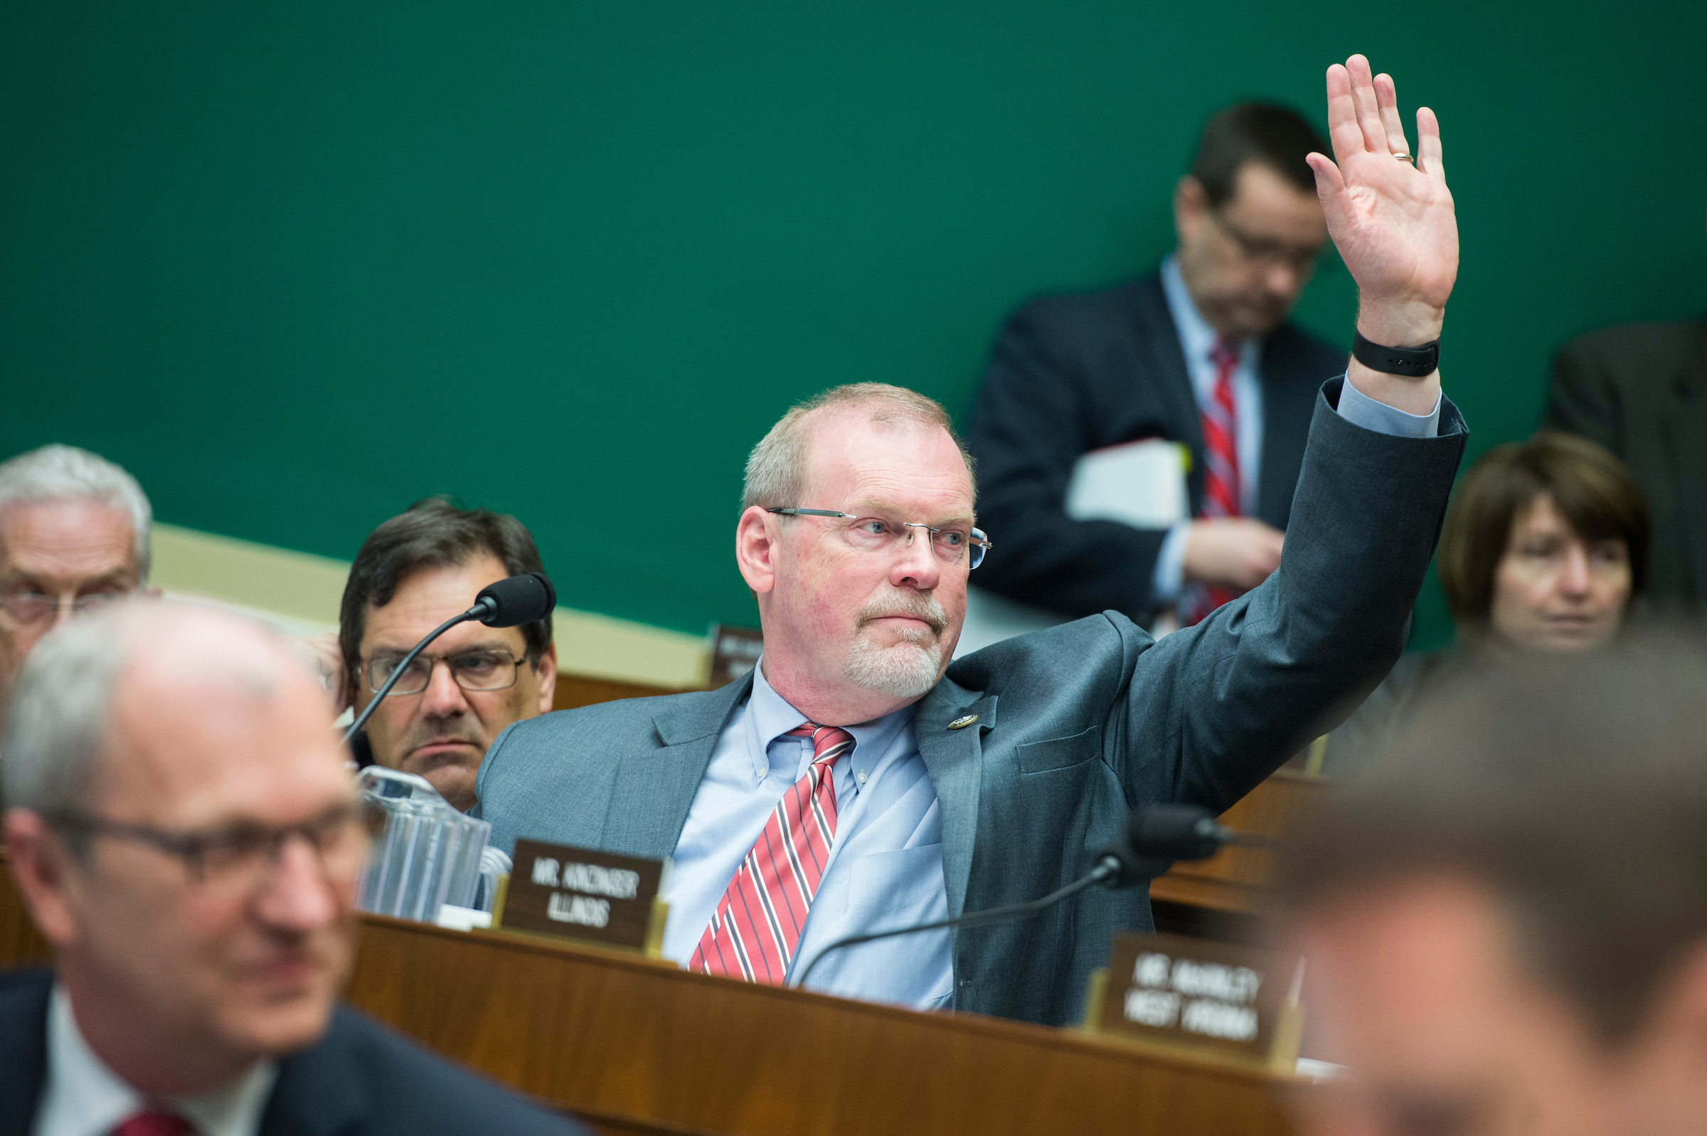
<svg viewBox="0 0 1707 1136">
<path fill-rule="evenodd" d="M 1640 482 L 1654 512 L 1647 598 L 1707 606 L 1707 316 L 1560 347 L 1545 425 L 1599 442 Z"/>
</svg>

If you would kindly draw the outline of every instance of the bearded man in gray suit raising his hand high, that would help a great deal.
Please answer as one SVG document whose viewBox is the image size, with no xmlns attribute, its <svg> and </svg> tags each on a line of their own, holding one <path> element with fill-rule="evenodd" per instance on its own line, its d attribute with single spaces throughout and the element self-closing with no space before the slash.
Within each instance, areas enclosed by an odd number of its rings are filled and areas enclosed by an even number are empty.
<svg viewBox="0 0 1707 1136">
<path fill-rule="evenodd" d="M 1412 167 L 1362 56 L 1328 70 L 1328 111 L 1338 166 L 1311 166 L 1383 347 L 1323 386 L 1279 572 L 1161 644 L 1110 612 L 949 668 L 987 547 L 968 461 L 930 400 L 830 391 L 748 463 L 760 668 L 510 726 L 478 781 L 493 840 L 671 856 L 664 953 L 784 982 L 838 938 L 1053 892 L 1130 808 L 1226 808 L 1314 736 L 1398 656 L 1465 441 L 1429 362 L 1458 270 L 1434 114 Z M 831 953 L 811 984 L 1062 1023 L 1113 933 L 1147 926 L 1145 895 L 1082 892 Z"/>
</svg>

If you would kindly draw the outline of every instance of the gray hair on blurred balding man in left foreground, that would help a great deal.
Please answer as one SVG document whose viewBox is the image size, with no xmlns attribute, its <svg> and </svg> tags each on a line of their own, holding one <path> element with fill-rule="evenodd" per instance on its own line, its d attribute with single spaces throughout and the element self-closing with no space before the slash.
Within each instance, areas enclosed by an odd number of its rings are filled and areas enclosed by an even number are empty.
<svg viewBox="0 0 1707 1136">
<path fill-rule="evenodd" d="M 135 642 L 118 618 L 128 606 L 72 620 L 24 659 L 0 741 L 7 806 L 50 815 L 85 801 Z"/>
</svg>

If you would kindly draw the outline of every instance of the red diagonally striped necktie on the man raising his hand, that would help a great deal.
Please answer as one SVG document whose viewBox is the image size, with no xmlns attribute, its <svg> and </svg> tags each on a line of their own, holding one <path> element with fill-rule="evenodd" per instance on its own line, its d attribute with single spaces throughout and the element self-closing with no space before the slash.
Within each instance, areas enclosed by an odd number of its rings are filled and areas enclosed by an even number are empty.
<svg viewBox="0 0 1707 1136">
<path fill-rule="evenodd" d="M 736 868 L 690 970 L 768 986 L 782 986 L 789 972 L 836 840 L 831 767 L 854 748 L 854 735 L 806 723 L 787 736 L 813 740 L 813 764 L 777 801 L 765 832 Z"/>
</svg>

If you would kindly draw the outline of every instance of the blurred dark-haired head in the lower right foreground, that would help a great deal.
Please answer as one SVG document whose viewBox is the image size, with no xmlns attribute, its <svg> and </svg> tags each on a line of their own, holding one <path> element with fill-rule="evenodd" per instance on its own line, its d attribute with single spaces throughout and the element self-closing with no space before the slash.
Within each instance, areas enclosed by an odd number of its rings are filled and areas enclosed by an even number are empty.
<svg viewBox="0 0 1707 1136">
<path fill-rule="evenodd" d="M 1707 656 L 1466 673 L 1294 849 L 1318 1131 L 1707 1131 Z"/>
</svg>

